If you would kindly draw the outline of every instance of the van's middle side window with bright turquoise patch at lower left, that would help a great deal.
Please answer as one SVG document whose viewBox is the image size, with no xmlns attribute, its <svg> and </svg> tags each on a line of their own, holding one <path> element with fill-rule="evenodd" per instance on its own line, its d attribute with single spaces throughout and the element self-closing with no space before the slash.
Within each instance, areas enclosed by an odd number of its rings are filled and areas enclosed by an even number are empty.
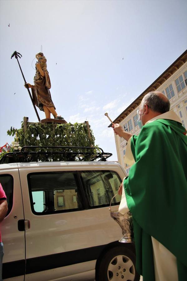
<svg viewBox="0 0 187 281">
<path fill-rule="evenodd" d="M 33 213 L 82 210 L 76 172 L 32 173 L 27 178 Z"/>
</svg>

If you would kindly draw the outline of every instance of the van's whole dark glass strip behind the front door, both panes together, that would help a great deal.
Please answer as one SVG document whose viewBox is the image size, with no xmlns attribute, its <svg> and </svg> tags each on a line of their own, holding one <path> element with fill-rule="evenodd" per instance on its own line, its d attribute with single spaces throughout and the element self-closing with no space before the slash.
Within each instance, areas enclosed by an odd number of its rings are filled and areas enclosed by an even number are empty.
<svg viewBox="0 0 187 281">
<path fill-rule="evenodd" d="M 109 170 L 31 173 L 27 179 L 31 210 L 37 215 L 108 206 L 121 184 Z M 112 205 L 120 200 L 117 194 Z"/>
</svg>

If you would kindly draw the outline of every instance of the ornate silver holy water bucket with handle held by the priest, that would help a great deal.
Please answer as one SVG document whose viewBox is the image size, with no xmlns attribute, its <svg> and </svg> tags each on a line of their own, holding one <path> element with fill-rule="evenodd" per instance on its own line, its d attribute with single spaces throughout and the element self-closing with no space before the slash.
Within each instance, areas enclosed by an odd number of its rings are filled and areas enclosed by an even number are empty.
<svg viewBox="0 0 187 281">
<path fill-rule="evenodd" d="M 117 194 L 116 194 L 117 195 Z M 114 195 L 114 197 L 116 196 Z M 120 213 L 119 211 L 112 211 L 111 210 L 111 203 L 110 202 L 110 216 L 119 224 L 122 229 L 123 237 L 119 240 L 122 243 L 131 243 L 134 242 L 134 232 L 133 232 L 133 224 L 132 224 L 132 214 L 128 211 L 125 214 Z"/>
</svg>

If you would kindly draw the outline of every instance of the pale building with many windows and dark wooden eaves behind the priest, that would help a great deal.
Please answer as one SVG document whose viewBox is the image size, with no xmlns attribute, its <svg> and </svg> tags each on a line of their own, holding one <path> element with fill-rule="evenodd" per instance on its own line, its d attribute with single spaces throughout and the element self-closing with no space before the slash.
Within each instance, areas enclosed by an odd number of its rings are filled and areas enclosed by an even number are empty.
<svg viewBox="0 0 187 281">
<path fill-rule="evenodd" d="M 170 110 L 178 114 L 182 125 L 187 129 L 187 50 L 113 122 L 122 125 L 124 130 L 132 135 L 138 135 L 140 129 L 137 126 L 137 110 L 143 97 L 150 91 L 161 91 L 168 97 L 170 100 Z M 127 141 L 115 135 L 115 142 L 118 162 L 128 175 L 130 166 L 124 163 Z"/>
</svg>

